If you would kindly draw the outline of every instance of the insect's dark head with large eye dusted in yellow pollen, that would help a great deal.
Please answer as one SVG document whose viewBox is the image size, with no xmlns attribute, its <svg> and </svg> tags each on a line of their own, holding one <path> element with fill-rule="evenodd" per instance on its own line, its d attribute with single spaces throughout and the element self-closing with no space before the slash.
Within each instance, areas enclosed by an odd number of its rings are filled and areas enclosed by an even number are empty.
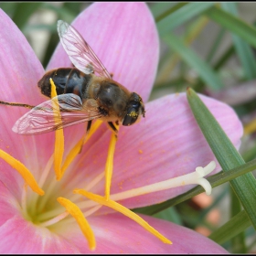
<svg viewBox="0 0 256 256">
<path fill-rule="evenodd" d="M 139 121 L 141 115 L 144 117 L 144 102 L 142 98 L 135 92 L 131 93 L 131 97 L 127 102 L 126 114 L 123 118 L 123 125 L 129 126 Z"/>
</svg>

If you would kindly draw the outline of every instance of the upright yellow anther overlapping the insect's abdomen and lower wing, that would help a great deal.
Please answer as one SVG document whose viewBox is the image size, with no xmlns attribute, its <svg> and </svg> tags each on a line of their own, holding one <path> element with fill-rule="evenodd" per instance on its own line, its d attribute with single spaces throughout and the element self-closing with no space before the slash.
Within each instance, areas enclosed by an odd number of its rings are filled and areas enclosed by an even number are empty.
<svg viewBox="0 0 256 256">
<path fill-rule="evenodd" d="M 51 85 L 50 97 L 54 98 L 57 96 L 56 86 L 52 79 L 49 79 Z M 59 104 L 58 99 L 53 102 L 53 114 L 59 115 Z M 61 178 L 61 164 L 64 154 L 64 134 L 63 129 L 56 130 L 55 132 L 55 146 L 54 146 L 54 170 L 56 174 L 56 179 Z"/>
</svg>

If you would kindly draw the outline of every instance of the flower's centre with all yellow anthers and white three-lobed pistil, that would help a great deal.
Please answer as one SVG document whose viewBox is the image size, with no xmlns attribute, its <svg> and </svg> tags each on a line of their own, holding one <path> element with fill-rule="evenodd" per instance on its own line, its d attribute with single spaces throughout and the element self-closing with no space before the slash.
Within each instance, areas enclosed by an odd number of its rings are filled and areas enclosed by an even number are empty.
<svg viewBox="0 0 256 256">
<path fill-rule="evenodd" d="M 58 116 L 60 115 L 58 109 L 58 97 L 56 97 L 57 94 L 55 85 L 52 80 L 50 81 L 52 85 L 51 96 L 53 98 L 53 103 L 56 104 L 54 107 L 54 110 L 56 112 L 54 113 Z M 74 219 L 76 219 L 83 235 L 88 240 L 90 249 L 93 250 L 95 249 L 96 242 L 90 224 L 86 218 L 93 214 L 95 211 L 97 211 L 99 208 L 101 208 L 101 206 L 107 206 L 121 212 L 128 218 L 133 219 L 138 224 L 143 226 L 144 229 L 154 234 L 155 237 L 157 237 L 159 240 L 171 244 L 172 242 L 170 240 L 167 240 L 162 234 L 160 234 L 146 221 L 144 221 L 144 219 L 133 213 L 128 208 L 125 208 L 121 204 L 117 203 L 116 200 L 123 200 L 129 197 L 136 197 L 147 193 L 153 193 L 155 191 L 161 191 L 171 187 L 185 186 L 187 184 L 199 184 L 206 189 L 207 194 L 210 194 L 211 187 L 208 181 L 203 178 L 203 176 L 208 175 L 208 173 L 215 168 L 215 163 L 211 162 L 205 168 L 197 167 L 195 173 L 188 174 L 186 176 L 179 176 L 173 179 L 165 180 L 163 182 L 155 183 L 150 186 L 139 187 L 129 191 L 124 191 L 122 193 L 111 195 L 110 187 L 112 181 L 113 155 L 116 144 L 116 135 L 115 133 L 112 133 L 105 172 L 101 173 L 101 175 L 99 176 L 96 176 L 86 187 L 86 190 L 75 189 L 73 193 L 76 194 L 76 197 L 71 197 L 71 195 L 69 195 L 70 191 L 65 186 L 65 184 L 63 184 L 61 178 L 64 175 L 65 170 L 76 157 L 76 155 L 80 153 L 81 146 L 91 137 L 91 135 L 97 130 L 100 125 L 100 121 L 96 121 L 95 123 L 93 123 L 90 133 L 83 135 L 80 141 L 71 149 L 63 165 L 62 156 L 64 153 L 64 135 L 62 129 L 56 131 L 55 151 L 53 155 L 51 155 L 51 157 L 49 158 L 45 169 L 41 172 L 42 175 L 38 183 L 25 165 L 21 164 L 11 155 L 8 155 L 4 151 L 0 150 L 0 157 L 3 158 L 5 162 L 7 162 L 13 168 L 15 168 L 16 171 L 21 176 L 23 176 L 25 180 L 25 186 L 23 187 L 23 193 L 21 198 L 21 208 L 24 218 L 32 221 L 34 224 L 40 227 L 53 229 L 54 225 L 59 223 L 59 221 L 68 216 L 72 216 Z M 53 168 L 55 170 L 56 179 L 54 178 L 53 172 L 51 171 Z M 104 176 L 104 197 L 88 192 L 88 190 L 98 184 Z M 32 190 L 37 194 L 28 193 L 27 185 L 31 187 Z M 44 190 L 42 190 L 41 187 L 45 189 L 46 193 L 44 192 Z M 69 198 L 71 197 L 72 201 L 70 201 L 68 198 L 63 197 L 63 195 Z M 80 202 L 80 197 L 78 197 L 79 195 L 82 197 L 86 197 L 87 200 Z M 62 208 L 60 205 L 64 208 Z"/>
</svg>

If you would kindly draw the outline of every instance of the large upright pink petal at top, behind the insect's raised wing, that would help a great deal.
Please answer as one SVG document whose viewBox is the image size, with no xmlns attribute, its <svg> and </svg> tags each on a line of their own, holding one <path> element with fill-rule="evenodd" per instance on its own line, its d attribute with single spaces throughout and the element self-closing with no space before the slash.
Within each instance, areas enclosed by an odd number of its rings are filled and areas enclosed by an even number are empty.
<svg viewBox="0 0 256 256">
<path fill-rule="evenodd" d="M 94 3 L 72 23 L 113 79 L 147 101 L 155 80 L 159 42 L 155 21 L 144 3 Z M 71 67 L 58 46 L 48 69 Z"/>
</svg>

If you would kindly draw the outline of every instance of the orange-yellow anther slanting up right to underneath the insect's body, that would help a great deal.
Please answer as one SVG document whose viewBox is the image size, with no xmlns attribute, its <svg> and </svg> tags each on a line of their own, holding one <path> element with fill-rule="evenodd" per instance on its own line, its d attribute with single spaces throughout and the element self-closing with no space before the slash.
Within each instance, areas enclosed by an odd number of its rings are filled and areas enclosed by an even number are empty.
<svg viewBox="0 0 256 256">
<path fill-rule="evenodd" d="M 69 165 L 72 163 L 74 158 L 80 153 L 80 148 L 81 148 L 82 144 L 85 144 L 91 138 L 92 134 L 95 133 L 96 130 L 101 126 L 101 123 L 102 123 L 101 120 L 97 120 L 95 123 L 93 123 L 91 125 L 89 134 L 87 135 L 87 133 L 85 133 L 81 137 L 80 141 L 70 150 L 69 155 L 66 157 L 66 160 L 61 167 L 62 176 L 63 176 L 64 172 L 66 171 L 66 169 L 69 167 Z M 85 138 L 85 136 L 86 136 L 86 138 Z M 85 140 L 84 140 L 84 138 L 85 138 Z"/>
</svg>

